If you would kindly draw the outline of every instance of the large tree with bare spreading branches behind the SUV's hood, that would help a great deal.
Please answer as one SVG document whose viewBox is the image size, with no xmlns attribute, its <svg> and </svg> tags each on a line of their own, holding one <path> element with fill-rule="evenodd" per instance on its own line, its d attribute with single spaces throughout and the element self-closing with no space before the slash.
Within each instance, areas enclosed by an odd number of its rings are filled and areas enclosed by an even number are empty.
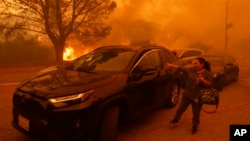
<svg viewBox="0 0 250 141">
<path fill-rule="evenodd" d="M 58 63 L 72 33 L 86 35 L 102 25 L 116 8 L 111 0 L 0 0 L 0 31 L 29 30 L 45 33 L 51 40 Z M 14 19 L 14 20 L 13 20 Z M 11 20 L 11 21 L 10 21 Z M 14 21 L 14 22 L 13 22 Z M 13 24 L 14 23 L 14 24 Z M 106 31 L 108 26 L 103 27 Z M 10 33 L 10 32 L 9 32 Z M 107 33 L 107 32 L 106 32 Z"/>
</svg>

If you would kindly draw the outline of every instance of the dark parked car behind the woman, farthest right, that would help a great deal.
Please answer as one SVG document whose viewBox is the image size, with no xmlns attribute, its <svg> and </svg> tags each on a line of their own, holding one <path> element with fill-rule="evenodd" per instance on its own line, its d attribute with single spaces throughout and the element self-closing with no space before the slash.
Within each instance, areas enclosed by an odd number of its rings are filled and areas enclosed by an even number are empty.
<svg viewBox="0 0 250 141">
<path fill-rule="evenodd" d="M 204 54 L 201 55 L 211 64 L 211 71 L 214 77 L 214 86 L 218 90 L 239 78 L 239 66 L 231 55 Z"/>
</svg>

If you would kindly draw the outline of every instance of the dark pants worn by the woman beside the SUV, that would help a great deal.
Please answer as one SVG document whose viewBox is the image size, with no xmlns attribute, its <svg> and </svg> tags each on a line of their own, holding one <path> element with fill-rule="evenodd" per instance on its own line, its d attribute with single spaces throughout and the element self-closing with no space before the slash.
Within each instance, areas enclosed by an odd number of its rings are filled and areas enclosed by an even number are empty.
<svg viewBox="0 0 250 141">
<path fill-rule="evenodd" d="M 195 103 L 195 102 L 193 102 L 193 100 L 191 100 L 190 98 L 185 97 L 185 96 L 182 97 L 181 104 L 176 111 L 176 114 L 174 116 L 174 120 L 179 121 L 182 114 L 186 111 L 186 109 L 188 108 L 188 106 L 190 104 L 192 104 L 192 112 L 193 112 L 192 123 L 193 123 L 193 126 L 198 126 L 200 123 L 200 112 L 201 112 L 202 104 Z"/>
</svg>

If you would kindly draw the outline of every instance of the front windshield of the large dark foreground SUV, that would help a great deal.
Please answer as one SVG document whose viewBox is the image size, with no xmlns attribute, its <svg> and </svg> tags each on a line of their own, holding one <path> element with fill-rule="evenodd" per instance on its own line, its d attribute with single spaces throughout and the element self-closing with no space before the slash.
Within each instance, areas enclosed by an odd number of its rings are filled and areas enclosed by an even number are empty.
<svg viewBox="0 0 250 141">
<path fill-rule="evenodd" d="M 67 68 L 83 72 L 121 72 L 127 67 L 134 53 L 129 49 L 98 49 L 77 58 Z"/>
</svg>

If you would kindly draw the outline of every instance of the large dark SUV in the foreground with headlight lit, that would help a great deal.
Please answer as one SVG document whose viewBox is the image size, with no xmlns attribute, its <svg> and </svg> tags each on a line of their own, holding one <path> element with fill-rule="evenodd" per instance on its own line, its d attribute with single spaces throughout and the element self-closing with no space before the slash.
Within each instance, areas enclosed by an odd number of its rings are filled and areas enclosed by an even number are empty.
<svg viewBox="0 0 250 141">
<path fill-rule="evenodd" d="M 13 126 L 52 140 L 114 141 L 119 121 L 176 105 L 177 63 L 161 46 L 105 46 L 23 81 L 13 95 Z"/>
</svg>

